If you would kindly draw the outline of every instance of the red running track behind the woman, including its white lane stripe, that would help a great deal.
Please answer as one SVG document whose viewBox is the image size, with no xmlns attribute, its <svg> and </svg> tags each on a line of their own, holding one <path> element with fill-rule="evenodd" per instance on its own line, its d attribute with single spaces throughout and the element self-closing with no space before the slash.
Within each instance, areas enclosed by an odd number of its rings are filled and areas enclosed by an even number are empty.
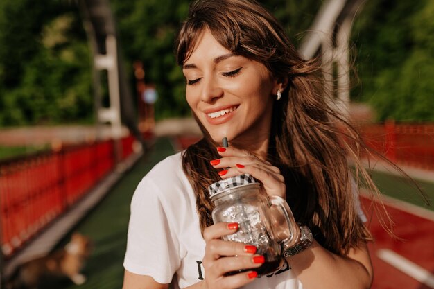
<svg viewBox="0 0 434 289">
<path fill-rule="evenodd" d="M 186 148 L 197 137 L 178 137 L 175 146 Z M 370 254 L 374 265 L 372 289 L 434 289 L 434 212 L 386 198 L 397 240 L 388 234 L 374 213 L 369 198 L 361 198 L 374 242 Z"/>
</svg>

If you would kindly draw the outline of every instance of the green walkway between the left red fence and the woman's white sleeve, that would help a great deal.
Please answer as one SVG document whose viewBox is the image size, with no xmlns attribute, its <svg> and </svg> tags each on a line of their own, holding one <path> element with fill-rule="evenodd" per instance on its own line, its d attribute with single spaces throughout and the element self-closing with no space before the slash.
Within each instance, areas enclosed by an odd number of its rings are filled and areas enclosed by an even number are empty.
<svg viewBox="0 0 434 289">
<path fill-rule="evenodd" d="M 169 139 L 158 139 L 148 156 L 140 159 L 112 188 L 101 204 L 98 204 L 98 207 L 77 225 L 73 231 L 89 236 L 94 242 L 94 251 L 84 270 L 87 282 L 82 286 L 74 286 L 71 282 L 65 281 L 62 283 L 62 288 L 119 289 L 122 287 L 122 263 L 132 194 L 148 170 L 173 152 Z M 58 247 L 64 245 L 66 239 Z"/>
</svg>

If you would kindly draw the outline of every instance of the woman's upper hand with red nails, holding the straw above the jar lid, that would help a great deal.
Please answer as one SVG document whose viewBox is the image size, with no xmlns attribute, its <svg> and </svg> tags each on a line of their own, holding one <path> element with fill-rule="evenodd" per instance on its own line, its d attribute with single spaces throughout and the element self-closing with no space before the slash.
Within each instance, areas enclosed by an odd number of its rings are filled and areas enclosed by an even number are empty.
<svg viewBox="0 0 434 289">
<path fill-rule="evenodd" d="M 285 179 L 280 174 L 279 168 L 272 166 L 268 161 L 255 157 L 246 150 L 220 147 L 217 148 L 217 151 L 222 158 L 212 160 L 211 165 L 214 168 L 223 168 L 218 173 L 220 177 L 226 179 L 241 173 L 248 173 L 262 183 L 263 189 L 266 190 L 268 195 L 277 195 L 285 199 Z"/>
</svg>

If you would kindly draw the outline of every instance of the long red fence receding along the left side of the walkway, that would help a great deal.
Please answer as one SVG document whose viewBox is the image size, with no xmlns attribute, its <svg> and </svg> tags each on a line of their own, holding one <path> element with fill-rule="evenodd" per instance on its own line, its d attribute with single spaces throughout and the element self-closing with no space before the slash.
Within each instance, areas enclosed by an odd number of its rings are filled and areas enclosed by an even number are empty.
<svg viewBox="0 0 434 289">
<path fill-rule="evenodd" d="M 121 140 L 122 159 L 132 154 L 133 143 L 132 136 Z M 110 173 L 114 150 L 107 140 L 0 163 L 3 256 L 12 256 Z"/>
</svg>

